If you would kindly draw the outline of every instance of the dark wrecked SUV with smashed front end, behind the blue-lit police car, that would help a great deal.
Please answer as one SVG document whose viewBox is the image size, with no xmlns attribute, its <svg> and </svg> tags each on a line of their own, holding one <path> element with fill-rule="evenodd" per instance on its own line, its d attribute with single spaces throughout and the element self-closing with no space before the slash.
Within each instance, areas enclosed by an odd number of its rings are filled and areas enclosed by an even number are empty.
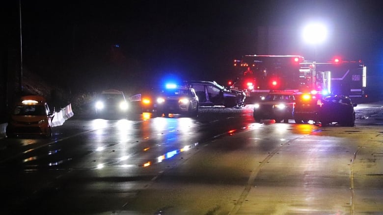
<svg viewBox="0 0 383 215">
<path fill-rule="evenodd" d="M 199 99 L 200 106 L 241 107 L 246 95 L 242 91 L 230 90 L 215 81 L 188 81 Z"/>
</svg>

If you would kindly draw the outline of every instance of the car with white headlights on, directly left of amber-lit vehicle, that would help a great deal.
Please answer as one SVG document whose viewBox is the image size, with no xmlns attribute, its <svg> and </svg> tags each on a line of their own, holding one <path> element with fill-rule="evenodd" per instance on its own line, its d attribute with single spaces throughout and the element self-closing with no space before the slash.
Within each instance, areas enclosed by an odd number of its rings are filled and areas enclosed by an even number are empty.
<svg viewBox="0 0 383 215">
<path fill-rule="evenodd" d="M 256 122 L 261 119 L 275 119 L 276 122 L 289 122 L 293 118 L 296 97 L 300 93 L 292 91 L 272 92 L 263 100 L 254 104 L 253 117 Z"/>
</svg>

